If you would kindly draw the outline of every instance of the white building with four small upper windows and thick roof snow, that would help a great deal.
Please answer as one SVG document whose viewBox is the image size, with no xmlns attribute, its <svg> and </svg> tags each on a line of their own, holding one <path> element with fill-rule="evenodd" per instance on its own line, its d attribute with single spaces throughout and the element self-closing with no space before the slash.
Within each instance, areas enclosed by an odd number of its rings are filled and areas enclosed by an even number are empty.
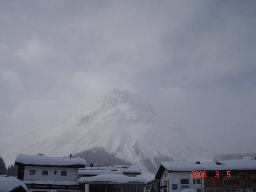
<svg viewBox="0 0 256 192">
<path fill-rule="evenodd" d="M 84 159 L 19 154 L 15 165 L 17 178 L 24 181 L 28 192 L 81 192 L 77 179 L 78 168 L 86 165 Z"/>
</svg>

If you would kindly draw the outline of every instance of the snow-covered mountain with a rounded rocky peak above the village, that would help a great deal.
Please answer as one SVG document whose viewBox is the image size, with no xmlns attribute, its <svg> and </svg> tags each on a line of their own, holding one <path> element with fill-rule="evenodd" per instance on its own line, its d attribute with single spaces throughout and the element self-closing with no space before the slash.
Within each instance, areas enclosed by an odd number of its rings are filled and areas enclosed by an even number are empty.
<svg viewBox="0 0 256 192">
<path fill-rule="evenodd" d="M 100 146 L 137 164 L 142 164 L 143 157 L 153 160 L 165 155 L 188 161 L 212 155 L 192 143 L 181 128 L 162 123 L 145 99 L 116 89 L 94 109 L 70 119 L 25 152 L 63 156 Z"/>
</svg>

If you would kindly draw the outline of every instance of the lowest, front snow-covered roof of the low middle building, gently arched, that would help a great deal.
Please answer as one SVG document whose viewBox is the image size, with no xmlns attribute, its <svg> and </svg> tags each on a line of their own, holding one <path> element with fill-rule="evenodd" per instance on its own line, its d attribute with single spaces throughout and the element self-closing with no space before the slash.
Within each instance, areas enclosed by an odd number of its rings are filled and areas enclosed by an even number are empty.
<svg viewBox="0 0 256 192">
<path fill-rule="evenodd" d="M 129 182 L 141 182 L 145 183 L 146 179 L 143 177 L 128 177 L 121 174 L 100 174 L 92 177 L 81 177 L 78 179 L 78 183 L 90 183 L 90 182 L 113 182 L 113 183 L 129 183 Z"/>
</svg>

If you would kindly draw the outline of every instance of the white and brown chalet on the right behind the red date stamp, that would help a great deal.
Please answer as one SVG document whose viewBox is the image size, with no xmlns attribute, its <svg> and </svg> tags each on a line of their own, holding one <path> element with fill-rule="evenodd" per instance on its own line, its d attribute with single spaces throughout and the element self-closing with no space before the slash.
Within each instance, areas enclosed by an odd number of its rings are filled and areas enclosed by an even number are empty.
<svg viewBox="0 0 256 192">
<path fill-rule="evenodd" d="M 162 162 L 155 179 L 159 192 L 256 192 L 256 161 Z"/>
</svg>

